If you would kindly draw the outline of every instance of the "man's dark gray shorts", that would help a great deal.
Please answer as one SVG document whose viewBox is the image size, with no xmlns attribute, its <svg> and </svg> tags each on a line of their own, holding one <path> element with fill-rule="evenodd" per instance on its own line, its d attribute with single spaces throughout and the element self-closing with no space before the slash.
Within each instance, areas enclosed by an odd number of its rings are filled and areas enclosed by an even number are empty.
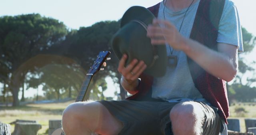
<svg viewBox="0 0 256 135">
<path fill-rule="evenodd" d="M 118 135 L 172 135 L 169 113 L 177 103 L 132 100 L 98 102 L 123 123 L 124 127 Z M 205 113 L 203 135 L 218 135 L 222 124 L 217 109 L 199 103 Z"/>
</svg>

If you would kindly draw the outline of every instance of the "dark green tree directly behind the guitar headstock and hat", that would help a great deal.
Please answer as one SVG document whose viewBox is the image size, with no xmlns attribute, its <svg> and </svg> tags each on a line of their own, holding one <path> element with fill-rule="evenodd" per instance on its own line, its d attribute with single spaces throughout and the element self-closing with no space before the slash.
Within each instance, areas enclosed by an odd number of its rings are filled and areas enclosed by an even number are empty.
<svg viewBox="0 0 256 135">
<path fill-rule="evenodd" d="M 94 82 L 105 78 L 106 76 L 112 77 L 115 83 L 119 83 L 120 74 L 117 71 L 118 58 L 115 56 L 110 41 L 114 33 L 119 29 L 120 21 L 105 21 L 98 22 L 90 27 L 81 27 L 79 30 L 72 30 L 66 36 L 66 40 L 62 43 L 64 52 L 67 57 L 72 58 L 78 62 L 84 69 L 89 69 L 92 62 L 96 59 L 100 51 L 110 51 L 111 60 L 107 62 L 107 69 L 95 75 L 92 78 L 91 85 L 96 86 Z M 119 79 L 116 79 L 118 77 Z M 96 87 L 95 87 L 96 88 Z M 120 85 L 120 89 L 122 86 Z M 97 88 L 96 88 L 97 89 Z M 122 99 L 126 97 L 124 89 L 121 89 L 123 95 Z M 90 93 L 88 94 L 88 96 Z M 89 97 L 86 97 L 87 99 Z"/>
</svg>

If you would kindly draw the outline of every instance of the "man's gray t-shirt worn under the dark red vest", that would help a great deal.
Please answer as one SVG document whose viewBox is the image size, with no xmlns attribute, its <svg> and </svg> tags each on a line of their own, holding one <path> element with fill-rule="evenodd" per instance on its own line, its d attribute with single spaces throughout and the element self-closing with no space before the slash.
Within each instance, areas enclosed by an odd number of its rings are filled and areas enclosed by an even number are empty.
<svg viewBox="0 0 256 135">
<path fill-rule="evenodd" d="M 190 37 L 194 18 L 198 9 L 200 0 L 192 4 L 186 13 L 182 24 L 180 34 L 186 38 Z M 165 10 L 165 11 L 163 11 Z M 180 29 L 182 19 L 187 8 L 174 12 L 160 3 L 158 19 L 165 19 L 172 22 L 177 30 Z M 239 52 L 243 51 L 242 32 L 236 6 L 230 0 L 226 0 L 223 14 L 220 19 L 217 42 L 232 44 L 239 47 Z M 169 45 L 166 45 L 167 55 L 170 56 Z M 194 86 L 190 70 L 187 63 L 187 56 L 182 51 L 174 50 L 172 55 L 176 55 L 178 63 L 176 67 L 167 67 L 166 74 L 163 77 L 154 77 L 152 85 L 152 97 L 156 99 L 165 99 L 170 102 L 180 101 L 204 101 L 201 93 Z"/>
</svg>

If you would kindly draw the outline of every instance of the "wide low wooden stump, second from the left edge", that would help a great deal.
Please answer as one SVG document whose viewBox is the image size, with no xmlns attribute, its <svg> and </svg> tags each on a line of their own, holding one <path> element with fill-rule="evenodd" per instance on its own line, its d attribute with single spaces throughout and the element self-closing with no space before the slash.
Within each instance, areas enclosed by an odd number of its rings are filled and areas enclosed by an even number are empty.
<svg viewBox="0 0 256 135">
<path fill-rule="evenodd" d="M 12 135 L 37 135 L 41 128 L 38 123 L 16 122 Z"/>
</svg>

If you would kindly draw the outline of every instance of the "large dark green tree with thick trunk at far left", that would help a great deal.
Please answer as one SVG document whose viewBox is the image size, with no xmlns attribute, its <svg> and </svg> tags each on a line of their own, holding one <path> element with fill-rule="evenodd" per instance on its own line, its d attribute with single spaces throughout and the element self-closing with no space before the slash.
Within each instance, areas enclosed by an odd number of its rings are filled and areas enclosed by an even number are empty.
<svg viewBox="0 0 256 135">
<path fill-rule="evenodd" d="M 0 17 L 0 69 L 6 69 L 10 80 L 13 106 L 19 105 L 18 91 L 26 73 L 36 68 L 26 62 L 64 40 L 66 34 L 62 22 L 39 14 Z"/>
</svg>

